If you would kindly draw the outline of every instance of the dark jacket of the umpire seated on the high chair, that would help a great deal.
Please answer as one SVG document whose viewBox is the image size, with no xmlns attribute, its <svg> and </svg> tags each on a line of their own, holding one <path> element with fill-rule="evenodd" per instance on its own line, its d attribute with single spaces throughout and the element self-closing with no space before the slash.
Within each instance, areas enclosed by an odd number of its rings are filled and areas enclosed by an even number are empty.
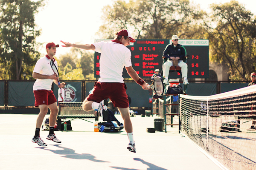
<svg viewBox="0 0 256 170">
<path fill-rule="evenodd" d="M 180 57 L 179 60 L 183 60 L 185 58 L 186 52 L 182 45 L 177 44 L 176 47 L 173 46 L 173 44 L 169 44 L 166 46 L 165 50 L 163 51 L 163 56 L 168 58 L 169 60 L 170 57 Z"/>
</svg>

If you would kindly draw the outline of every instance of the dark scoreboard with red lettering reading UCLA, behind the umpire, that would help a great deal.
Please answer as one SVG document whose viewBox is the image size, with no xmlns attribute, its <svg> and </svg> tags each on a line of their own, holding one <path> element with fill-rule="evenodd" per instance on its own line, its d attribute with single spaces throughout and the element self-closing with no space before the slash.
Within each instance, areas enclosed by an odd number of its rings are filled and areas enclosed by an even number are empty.
<svg viewBox="0 0 256 170">
<path fill-rule="evenodd" d="M 95 40 L 111 41 L 111 40 Z M 127 46 L 131 50 L 131 63 L 134 70 L 141 78 L 150 78 L 155 69 L 162 70 L 163 51 L 172 40 L 136 40 Z M 179 40 L 179 44 L 186 49 L 188 65 L 188 78 L 209 77 L 209 40 Z M 94 54 L 94 76 L 99 77 L 100 53 Z M 126 69 L 123 71 L 124 78 L 130 78 Z M 169 78 L 181 78 L 178 72 L 171 72 Z"/>
</svg>

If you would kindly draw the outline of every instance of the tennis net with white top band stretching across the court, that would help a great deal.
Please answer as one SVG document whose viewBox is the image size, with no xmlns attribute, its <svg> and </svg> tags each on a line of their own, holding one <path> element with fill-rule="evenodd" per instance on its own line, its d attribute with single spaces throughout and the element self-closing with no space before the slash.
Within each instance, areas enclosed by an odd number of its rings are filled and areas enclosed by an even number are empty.
<svg viewBox="0 0 256 170">
<path fill-rule="evenodd" d="M 256 168 L 256 86 L 213 96 L 180 95 L 180 130 L 229 170 Z"/>
</svg>

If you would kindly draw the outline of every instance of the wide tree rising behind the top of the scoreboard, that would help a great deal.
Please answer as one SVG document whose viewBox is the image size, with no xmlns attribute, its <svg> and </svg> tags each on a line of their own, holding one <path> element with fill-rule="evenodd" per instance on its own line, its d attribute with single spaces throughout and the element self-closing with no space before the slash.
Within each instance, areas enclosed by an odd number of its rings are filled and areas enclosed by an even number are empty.
<svg viewBox="0 0 256 170">
<path fill-rule="evenodd" d="M 120 29 L 131 30 L 137 39 L 171 39 L 173 34 L 180 38 L 200 35 L 202 29 L 192 29 L 195 22 L 204 16 L 189 0 L 116 0 L 113 6 L 103 8 L 98 35 L 113 38 L 113 32 Z"/>
</svg>

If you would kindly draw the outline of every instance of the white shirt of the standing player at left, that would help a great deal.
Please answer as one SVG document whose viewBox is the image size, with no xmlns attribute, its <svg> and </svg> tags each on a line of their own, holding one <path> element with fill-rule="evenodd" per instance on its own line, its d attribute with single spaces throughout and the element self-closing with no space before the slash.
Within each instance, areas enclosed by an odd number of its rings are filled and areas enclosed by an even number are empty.
<svg viewBox="0 0 256 170">
<path fill-rule="evenodd" d="M 48 76 L 54 74 L 52 71 L 52 67 L 50 65 L 50 61 L 51 59 L 48 59 L 47 57 L 38 59 L 38 61 L 35 64 L 35 68 L 33 72 L 42 74 L 42 75 L 48 75 Z M 53 59 L 53 61 L 54 61 L 53 63 L 56 65 L 58 69 L 57 61 L 55 59 Z M 36 79 L 33 86 L 33 91 L 37 91 L 37 90 L 50 91 L 52 89 L 52 82 L 53 82 L 52 79 Z"/>
</svg>

